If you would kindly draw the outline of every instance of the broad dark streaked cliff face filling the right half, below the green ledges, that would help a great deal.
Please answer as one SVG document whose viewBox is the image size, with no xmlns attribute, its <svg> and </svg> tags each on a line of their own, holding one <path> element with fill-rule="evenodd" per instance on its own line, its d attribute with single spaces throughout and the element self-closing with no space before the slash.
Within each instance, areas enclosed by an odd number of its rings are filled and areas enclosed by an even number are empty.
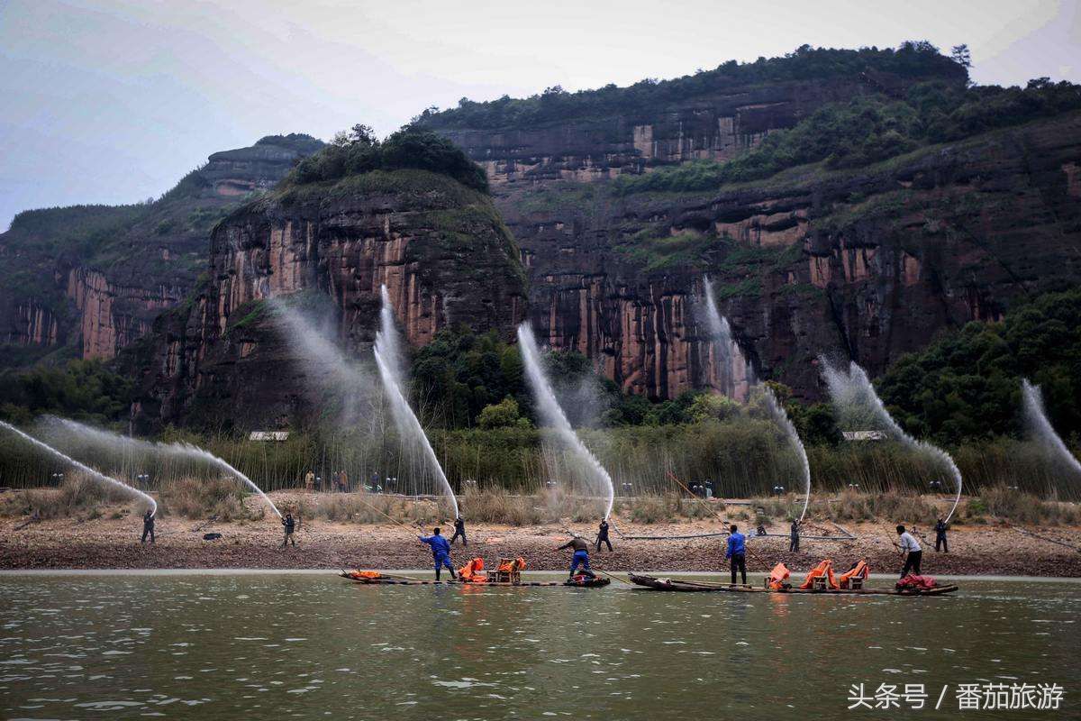
<svg viewBox="0 0 1081 721">
<path fill-rule="evenodd" d="M 1077 115 L 859 171 L 812 166 L 716 192 L 617 197 L 603 179 L 610 172 L 589 176 L 599 182 L 568 172 L 586 156 L 611 158 L 609 171 L 627 165 L 624 151 L 641 162 L 633 125 L 624 123 L 624 149 L 612 155 L 604 144 L 583 155 L 571 126 L 488 141 L 448 131 L 496 183 L 530 276 L 537 336 L 586 353 L 627 391 L 672 398 L 733 387 L 718 374 L 738 369 L 718 371 L 696 311 L 705 273 L 755 372 L 804 398 L 822 397 L 819 353 L 875 374 L 936 333 L 1081 279 Z M 664 126 L 658 134 L 653 123 L 653 142 L 667 139 L 651 148 L 672 147 L 679 125 Z M 718 138 L 692 149 L 723 157 Z M 522 149 L 536 145 L 550 160 L 523 169 Z"/>
</svg>

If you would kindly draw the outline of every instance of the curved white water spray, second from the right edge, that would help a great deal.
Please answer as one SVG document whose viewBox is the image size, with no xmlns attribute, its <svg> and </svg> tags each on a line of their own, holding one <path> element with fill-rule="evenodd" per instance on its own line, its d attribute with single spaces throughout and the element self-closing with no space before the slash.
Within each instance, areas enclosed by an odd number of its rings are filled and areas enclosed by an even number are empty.
<svg viewBox="0 0 1081 721">
<path fill-rule="evenodd" d="M 823 377 L 826 379 L 826 385 L 829 386 L 829 395 L 842 425 L 860 424 L 864 427 L 853 429 L 884 431 L 894 440 L 937 460 L 953 477 L 953 481 L 957 483 L 957 496 L 953 498 L 949 513 L 946 515 L 945 520 L 949 522 L 961 500 L 962 488 L 961 471 L 950 454 L 937 445 L 932 445 L 926 441 L 918 441 L 902 430 L 885 410 L 885 405 L 875 392 L 875 386 L 871 385 L 867 373 L 859 365 L 850 363 L 849 372 L 845 373 L 840 369 L 835 369 L 826 358 L 819 358 L 818 362 L 822 364 Z"/>
</svg>

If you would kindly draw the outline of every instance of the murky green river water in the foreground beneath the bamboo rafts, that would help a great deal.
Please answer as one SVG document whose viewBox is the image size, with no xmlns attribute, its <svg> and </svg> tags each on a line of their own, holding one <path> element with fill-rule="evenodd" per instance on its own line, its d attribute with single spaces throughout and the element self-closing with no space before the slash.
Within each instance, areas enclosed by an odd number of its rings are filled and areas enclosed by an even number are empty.
<svg viewBox="0 0 1081 721">
<path fill-rule="evenodd" d="M 926 599 L 277 573 L 0 584 L 4 719 L 1081 718 L 1068 582 L 962 580 Z M 859 683 L 871 705 L 895 685 L 899 711 L 849 710 Z M 962 683 L 1065 694 L 1058 715 L 962 711 Z M 922 710 L 906 684 L 923 684 Z"/>
</svg>

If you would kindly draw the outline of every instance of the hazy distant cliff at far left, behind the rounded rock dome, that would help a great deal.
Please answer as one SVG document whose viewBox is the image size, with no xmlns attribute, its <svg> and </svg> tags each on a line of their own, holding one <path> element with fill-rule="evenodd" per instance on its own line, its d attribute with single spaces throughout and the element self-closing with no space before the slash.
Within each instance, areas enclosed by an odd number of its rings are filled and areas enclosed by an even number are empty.
<svg viewBox="0 0 1081 721">
<path fill-rule="evenodd" d="M 15 357 L 66 347 L 110 359 L 150 331 L 204 269 L 210 228 L 241 199 L 265 191 L 321 143 L 272 136 L 216 152 L 160 200 L 122 208 L 34 211 L 0 236 L 18 278 L 0 286 L 3 343 Z"/>
</svg>

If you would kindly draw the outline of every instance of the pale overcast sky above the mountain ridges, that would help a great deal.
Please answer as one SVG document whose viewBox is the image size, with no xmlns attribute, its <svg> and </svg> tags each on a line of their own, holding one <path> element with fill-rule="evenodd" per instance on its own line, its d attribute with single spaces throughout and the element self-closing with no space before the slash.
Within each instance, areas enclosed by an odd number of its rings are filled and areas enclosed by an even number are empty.
<svg viewBox="0 0 1081 721">
<path fill-rule="evenodd" d="M 263 135 L 381 135 L 429 105 L 671 78 L 810 43 L 972 50 L 979 83 L 1081 80 L 1081 0 L 0 0 L 0 229 L 158 196 Z"/>
</svg>

